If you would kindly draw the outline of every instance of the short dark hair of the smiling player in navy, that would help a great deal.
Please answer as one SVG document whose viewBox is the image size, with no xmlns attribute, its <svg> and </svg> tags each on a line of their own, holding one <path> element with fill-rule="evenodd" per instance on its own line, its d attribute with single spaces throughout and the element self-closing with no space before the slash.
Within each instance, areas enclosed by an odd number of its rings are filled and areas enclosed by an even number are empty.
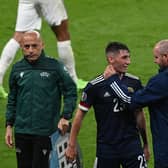
<svg viewBox="0 0 168 168">
<path fill-rule="evenodd" d="M 109 52 L 113 52 L 113 53 L 118 53 L 119 50 L 127 50 L 128 52 L 130 52 L 129 48 L 127 47 L 127 45 L 120 43 L 120 42 L 109 42 L 106 49 L 105 49 L 105 53 L 109 53 Z"/>
</svg>

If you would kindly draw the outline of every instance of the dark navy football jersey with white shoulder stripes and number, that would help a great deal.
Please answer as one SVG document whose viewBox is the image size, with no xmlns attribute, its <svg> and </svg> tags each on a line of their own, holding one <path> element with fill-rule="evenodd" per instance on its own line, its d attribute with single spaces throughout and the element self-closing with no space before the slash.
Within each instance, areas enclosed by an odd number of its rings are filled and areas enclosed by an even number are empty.
<svg viewBox="0 0 168 168">
<path fill-rule="evenodd" d="M 131 92 L 142 88 L 140 80 L 135 76 L 125 74 L 121 81 Z M 94 108 L 97 122 L 97 153 L 104 155 L 99 151 L 99 147 L 100 150 L 105 149 L 107 155 L 120 153 L 120 147 L 125 148 L 123 153 L 127 153 L 130 152 L 127 144 L 131 145 L 133 151 L 136 151 L 138 144 L 139 150 L 141 145 L 134 112 L 124 110 L 124 104 L 111 91 L 110 83 L 110 78 L 105 80 L 103 75 L 90 81 L 79 104 L 83 111 L 88 111 L 91 106 Z M 106 145 L 109 145 L 108 148 Z"/>
</svg>

